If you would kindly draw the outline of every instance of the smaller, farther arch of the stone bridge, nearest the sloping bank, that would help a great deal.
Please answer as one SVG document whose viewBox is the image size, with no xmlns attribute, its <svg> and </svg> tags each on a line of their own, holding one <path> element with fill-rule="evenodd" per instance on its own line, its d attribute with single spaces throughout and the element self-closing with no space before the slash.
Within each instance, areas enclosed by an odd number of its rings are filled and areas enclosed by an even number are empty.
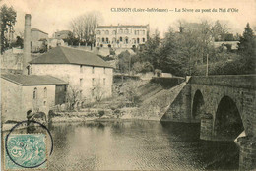
<svg viewBox="0 0 256 171">
<path fill-rule="evenodd" d="M 204 97 L 200 90 L 196 90 L 192 104 L 192 119 L 200 122 L 203 112 Z"/>
</svg>

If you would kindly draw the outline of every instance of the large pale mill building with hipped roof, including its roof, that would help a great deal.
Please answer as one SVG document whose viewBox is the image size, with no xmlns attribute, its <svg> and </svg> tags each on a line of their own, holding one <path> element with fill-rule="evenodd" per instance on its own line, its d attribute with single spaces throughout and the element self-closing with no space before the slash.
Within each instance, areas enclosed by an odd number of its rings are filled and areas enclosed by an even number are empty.
<svg viewBox="0 0 256 171">
<path fill-rule="evenodd" d="M 32 75 L 51 75 L 79 91 L 81 102 L 112 95 L 113 68 L 96 54 L 58 46 L 30 62 Z"/>
</svg>

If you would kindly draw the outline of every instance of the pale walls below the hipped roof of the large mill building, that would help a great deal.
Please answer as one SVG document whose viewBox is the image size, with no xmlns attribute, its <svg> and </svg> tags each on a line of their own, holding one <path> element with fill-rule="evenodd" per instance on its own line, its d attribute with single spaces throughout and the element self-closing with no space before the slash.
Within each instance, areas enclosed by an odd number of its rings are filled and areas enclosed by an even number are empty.
<svg viewBox="0 0 256 171">
<path fill-rule="evenodd" d="M 32 64 L 32 74 L 50 75 L 69 83 L 74 89 L 82 90 L 83 98 L 95 99 L 92 90 L 100 86 L 103 97 L 112 95 L 113 69 L 72 64 Z M 93 84 L 94 78 L 94 84 Z M 105 83 L 105 85 L 104 85 Z M 96 92 L 95 92 L 96 93 Z"/>
</svg>

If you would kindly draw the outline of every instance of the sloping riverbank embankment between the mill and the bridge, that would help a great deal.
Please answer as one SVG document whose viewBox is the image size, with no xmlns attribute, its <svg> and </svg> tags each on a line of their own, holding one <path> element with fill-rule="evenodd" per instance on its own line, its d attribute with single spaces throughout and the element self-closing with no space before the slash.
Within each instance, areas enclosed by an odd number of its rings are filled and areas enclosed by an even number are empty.
<svg viewBox="0 0 256 171">
<path fill-rule="evenodd" d="M 137 105 L 112 107 L 97 105 L 96 108 L 83 108 L 74 112 L 55 112 L 52 122 L 79 122 L 103 119 L 142 119 L 160 121 L 162 116 L 169 110 L 173 101 L 180 95 L 186 83 L 170 88 L 148 83 L 138 90 L 139 101 Z M 100 108 L 101 107 L 101 108 Z M 175 106 L 174 106 L 175 107 Z M 101 115 L 101 116 L 100 116 Z"/>
</svg>

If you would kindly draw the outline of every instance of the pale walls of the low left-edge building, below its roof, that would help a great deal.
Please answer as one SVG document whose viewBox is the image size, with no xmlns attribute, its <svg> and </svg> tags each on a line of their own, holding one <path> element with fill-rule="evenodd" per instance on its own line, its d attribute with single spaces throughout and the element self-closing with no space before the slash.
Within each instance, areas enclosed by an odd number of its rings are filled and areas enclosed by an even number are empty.
<svg viewBox="0 0 256 171">
<path fill-rule="evenodd" d="M 44 95 L 44 88 L 47 95 Z M 37 88 L 36 99 L 33 99 L 33 90 Z M 1 113 L 2 122 L 8 120 L 27 120 L 27 111 L 36 110 L 48 113 L 55 103 L 55 85 L 18 85 L 1 79 Z"/>
</svg>

